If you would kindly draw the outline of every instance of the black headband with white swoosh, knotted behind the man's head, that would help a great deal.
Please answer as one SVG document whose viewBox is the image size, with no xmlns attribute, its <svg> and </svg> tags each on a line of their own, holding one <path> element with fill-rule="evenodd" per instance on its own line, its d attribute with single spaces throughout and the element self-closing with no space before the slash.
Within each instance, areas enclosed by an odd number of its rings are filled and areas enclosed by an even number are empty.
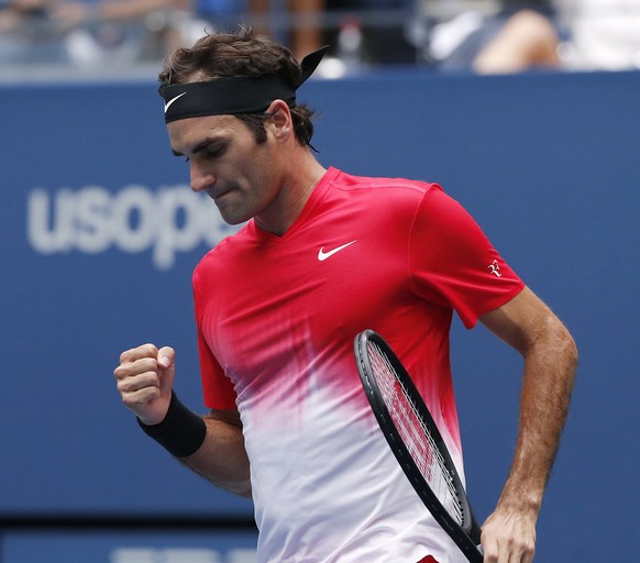
<svg viewBox="0 0 640 563">
<path fill-rule="evenodd" d="M 296 103 L 296 90 L 316 70 L 328 48 L 324 46 L 302 59 L 302 73 L 297 85 L 289 84 L 279 75 L 265 75 L 166 86 L 163 90 L 165 122 L 202 115 L 260 113 L 274 100 L 284 100 L 293 107 Z"/>
</svg>

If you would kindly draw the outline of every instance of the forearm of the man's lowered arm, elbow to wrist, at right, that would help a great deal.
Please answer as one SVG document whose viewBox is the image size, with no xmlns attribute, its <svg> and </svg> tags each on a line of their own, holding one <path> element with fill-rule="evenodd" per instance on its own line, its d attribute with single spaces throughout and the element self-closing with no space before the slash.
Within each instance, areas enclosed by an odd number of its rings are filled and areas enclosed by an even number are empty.
<svg viewBox="0 0 640 563">
<path fill-rule="evenodd" d="M 525 352 L 518 439 L 498 509 L 538 515 L 566 420 L 577 351 L 554 317 L 545 324 Z"/>
</svg>

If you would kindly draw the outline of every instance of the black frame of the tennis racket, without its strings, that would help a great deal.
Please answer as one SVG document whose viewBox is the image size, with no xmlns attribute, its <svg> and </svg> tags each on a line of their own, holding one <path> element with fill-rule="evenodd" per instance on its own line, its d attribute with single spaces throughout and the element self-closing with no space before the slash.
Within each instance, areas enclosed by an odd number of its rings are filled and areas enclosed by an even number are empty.
<svg viewBox="0 0 640 563">
<path fill-rule="evenodd" d="M 377 351 L 379 351 L 385 361 L 388 362 L 390 372 L 399 384 L 399 388 L 402 389 L 404 395 L 406 395 L 408 400 L 412 404 L 412 409 L 422 420 L 424 428 L 431 433 L 432 443 L 435 444 L 440 453 L 441 461 L 445 471 L 449 473 L 453 489 L 455 490 L 455 498 L 457 500 L 460 514 L 457 514 L 457 508 L 455 511 L 452 511 L 451 508 L 448 509 L 443 506 L 441 500 L 431 489 L 427 478 L 422 475 L 418 463 L 413 460 L 413 456 L 407 448 L 402 434 L 390 413 L 391 407 L 389 407 L 385 400 L 385 395 L 383 394 L 380 385 L 376 378 L 374 365 L 372 365 L 372 355 L 377 354 Z M 455 541 L 463 553 L 465 553 L 467 559 L 474 562 L 482 562 L 482 553 L 477 548 L 479 545 L 481 536 L 479 526 L 473 515 L 464 486 L 446 449 L 444 440 L 442 439 L 429 409 L 424 405 L 422 397 L 411 380 L 411 377 L 391 347 L 373 330 L 365 330 L 355 336 L 354 352 L 362 385 L 372 410 L 378 421 L 383 434 L 394 452 L 394 455 L 405 472 L 405 475 L 408 477 L 426 507 L 440 526 L 449 533 L 453 541 Z M 374 357 L 373 362 L 377 362 L 377 358 Z M 426 434 L 423 435 L 426 437 Z M 453 516 L 452 512 L 454 512 Z"/>
</svg>

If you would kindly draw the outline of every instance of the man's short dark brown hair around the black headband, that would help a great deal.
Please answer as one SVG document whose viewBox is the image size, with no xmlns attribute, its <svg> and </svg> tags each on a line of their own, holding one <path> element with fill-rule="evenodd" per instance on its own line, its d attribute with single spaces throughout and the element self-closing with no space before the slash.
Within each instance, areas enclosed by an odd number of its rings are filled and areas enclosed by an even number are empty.
<svg viewBox="0 0 640 563">
<path fill-rule="evenodd" d="M 279 75 L 295 87 L 300 81 L 300 64 L 284 45 L 254 34 L 251 27 L 241 26 L 235 34 L 207 34 L 192 47 L 175 51 L 165 60 L 158 75 L 158 91 L 162 96 L 164 88 L 174 84 L 263 75 Z M 296 140 L 302 146 L 310 145 L 313 135 L 311 117 L 315 111 L 305 103 L 296 104 L 290 110 Z M 264 120 L 269 115 L 240 113 L 235 117 L 246 123 L 256 142 L 266 141 Z"/>
</svg>

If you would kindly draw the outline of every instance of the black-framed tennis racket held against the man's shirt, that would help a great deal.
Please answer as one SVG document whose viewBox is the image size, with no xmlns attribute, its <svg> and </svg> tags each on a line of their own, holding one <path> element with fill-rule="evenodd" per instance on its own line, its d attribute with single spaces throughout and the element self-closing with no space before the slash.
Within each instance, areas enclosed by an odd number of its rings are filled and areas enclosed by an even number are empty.
<svg viewBox="0 0 640 563">
<path fill-rule="evenodd" d="M 481 528 L 429 409 L 402 364 L 373 330 L 355 336 L 355 361 L 378 424 L 418 496 L 472 563 Z"/>
</svg>

